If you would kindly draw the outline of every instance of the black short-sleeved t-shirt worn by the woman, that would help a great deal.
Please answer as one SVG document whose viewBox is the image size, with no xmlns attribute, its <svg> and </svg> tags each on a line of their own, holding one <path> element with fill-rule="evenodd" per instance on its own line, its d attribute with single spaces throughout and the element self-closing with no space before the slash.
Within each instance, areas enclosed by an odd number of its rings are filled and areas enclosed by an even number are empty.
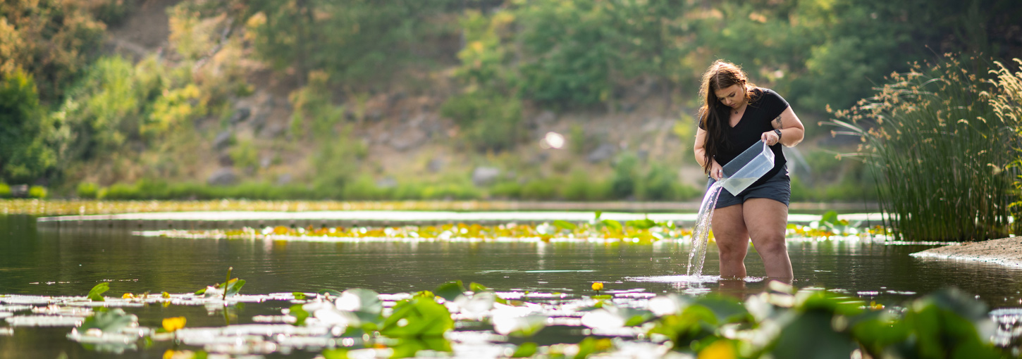
<svg viewBox="0 0 1022 359">
<path fill-rule="evenodd" d="M 753 91 L 752 101 L 745 108 L 742 119 L 734 127 L 729 123 L 731 115 L 728 112 L 731 110 L 731 107 L 719 102 L 714 106 L 714 109 L 717 111 L 717 118 L 723 118 L 726 121 L 724 123 L 724 133 L 728 137 L 727 145 L 721 146 L 721 150 L 713 157 L 716 159 L 716 163 L 719 163 L 722 166 L 731 162 L 735 157 L 738 157 L 749 146 L 762 141 L 760 137 L 762 137 L 763 133 L 774 131 L 771 121 L 780 116 L 781 112 L 784 112 L 788 108 L 788 101 L 785 101 L 781 95 L 778 95 L 773 90 L 757 88 Z M 702 123 L 699 123 L 699 127 L 705 130 Z M 771 151 L 774 151 L 774 168 L 751 186 L 758 186 L 784 170 L 787 161 L 784 159 L 781 146 L 779 143 L 770 147 Z"/>
</svg>

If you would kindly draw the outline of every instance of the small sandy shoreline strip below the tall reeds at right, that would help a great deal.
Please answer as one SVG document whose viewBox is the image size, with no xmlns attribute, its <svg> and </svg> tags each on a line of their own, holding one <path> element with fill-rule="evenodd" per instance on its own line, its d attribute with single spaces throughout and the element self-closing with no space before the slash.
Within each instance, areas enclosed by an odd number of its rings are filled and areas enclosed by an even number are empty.
<svg viewBox="0 0 1022 359">
<path fill-rule="evenodd" d="M 917 258 L 968 260 L 1022 267 L 1022 237 L 931 248 L 912 254 Z"/>
</svg>

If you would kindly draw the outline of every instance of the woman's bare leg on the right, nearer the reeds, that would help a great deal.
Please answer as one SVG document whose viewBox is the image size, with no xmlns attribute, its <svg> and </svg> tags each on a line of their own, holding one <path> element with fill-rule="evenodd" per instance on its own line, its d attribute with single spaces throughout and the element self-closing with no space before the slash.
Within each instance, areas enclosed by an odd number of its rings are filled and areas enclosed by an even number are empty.
<svg viewBox="0 0 1022 359">
<path fill-rule="evenodd" d="M 743 204 L 745 210 L 745 226 L 748 228 L 752 245 L 763 260 L 766 276 L 785 283 L 791 283 L 791 259 L 788 258 L 788 246 L 784 235 L 788 225 L 788 206 L 784 203 L 766 199 L 752 198 Z"/>
</svg>

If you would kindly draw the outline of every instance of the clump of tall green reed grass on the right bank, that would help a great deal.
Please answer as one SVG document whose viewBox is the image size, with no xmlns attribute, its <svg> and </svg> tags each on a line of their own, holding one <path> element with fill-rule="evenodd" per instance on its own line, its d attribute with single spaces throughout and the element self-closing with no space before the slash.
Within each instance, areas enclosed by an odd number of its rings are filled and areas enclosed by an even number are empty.
<svg viewBox="0 0 1022 359">
<path fill-rule="evenodd" d="M 990 70 L 994 64 L 1001 70 Z M 1011 109 L 997 105 L 1005 81 L 996 73 L 1018 75 L 975 56 L 917 63 L 825 122 L 839 127 L 835 136 L 861 137 L 853 155 L 875 170 L 884 220 L 896 237 L 965 242 L 1012 232 L 1020 122 L 1000 115 Z"/>
</svg>

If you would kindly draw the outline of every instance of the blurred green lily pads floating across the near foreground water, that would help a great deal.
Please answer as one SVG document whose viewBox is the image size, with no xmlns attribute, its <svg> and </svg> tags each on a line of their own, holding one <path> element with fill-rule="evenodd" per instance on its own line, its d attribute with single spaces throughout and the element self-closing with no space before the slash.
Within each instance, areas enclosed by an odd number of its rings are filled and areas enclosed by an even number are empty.
<svg viewBox="0 0 1022 359">
<path fill-rule="evenodd" d="M 228 275 L 230 277 L 230 275 Z M 227 281 L 230 281 L 228 279 Z M 593 290 L 597 290 L 594 283 Z M 222 286 L 226 287 L 226 286 Z M 656 295 L 643 290 L 607 291 L 596 296 L 497 292 L 472 283 L 442 284 L 432 292 L 378 294 L 365 289 L 318 294 L 275 293 L 226 297 L 236 302 L 276 301 L 283 315 L 257 315 L 251 324 L 186 327 L 184 317 L 164 318 L 161 327 L 140 326 L 122 308 L 171 302 L 175 305 L 222 306 L 224 296 L 187 294 L 108 298 L 67 336 L 89 348 L 109 352 L 138 350 L 145 342 L 174 340 L 165 355 L 199 357 L 208 354 L 261 355 L 304 350 L 324 358 L 413 357 L 427 352 L 454 352 L 494 346 L 501 356 L 586 358 L 608 356 L 660 357 L 676 351 L 692 357 L 731 358 L 959 357 L 1000 358 L 1008 354 L 991 343 L 1009 347 L 1018 342 L 1019 308 L 987 312 L 961 292 L 939 291 L 900 306 L 866 303 L 849 294 L 794 288 L 771 283 L 764 293 L 740 301 L 714 295 Z M 603 288 L 599 288 L 603 290 Z M 436 293 L 436 295 L 433 295 Z M 169 298 L 168 298 L 169 297 Z M 12 327 L 39 317 L 60 318 L 87 297 L 0 296 L 5 320 Z M 28 308 L 27 308 L 28 307 Z M 45 308 L 54 315 L 17 312 Z M 64 308 L 64 309 L 60 309 Z M 997 318 L 994 325 L 991 317 Z M 1013 319 L 1014 318 L 1014 319 Z M 531 338 L 548 327 L 574 327 L 576 343 L 540 346 L 507 344 L 509 337 Z M 455 329 L 460 327 L 459 329 Z M 170 335 L 173 332 L 173 336 Z M 1015 332 L 1013 335 L 1013 332 Z M 1014 337 L 1012 337 L 1014 336 Z M 475 346 L 475 347 L 472 347 Z M 476 349 L 470 349 L 476 348 Z M 196 350 L 201 349 L 201 350 Z M 492 356 L 497 357 L 497 356 Z"/>
</svg>

